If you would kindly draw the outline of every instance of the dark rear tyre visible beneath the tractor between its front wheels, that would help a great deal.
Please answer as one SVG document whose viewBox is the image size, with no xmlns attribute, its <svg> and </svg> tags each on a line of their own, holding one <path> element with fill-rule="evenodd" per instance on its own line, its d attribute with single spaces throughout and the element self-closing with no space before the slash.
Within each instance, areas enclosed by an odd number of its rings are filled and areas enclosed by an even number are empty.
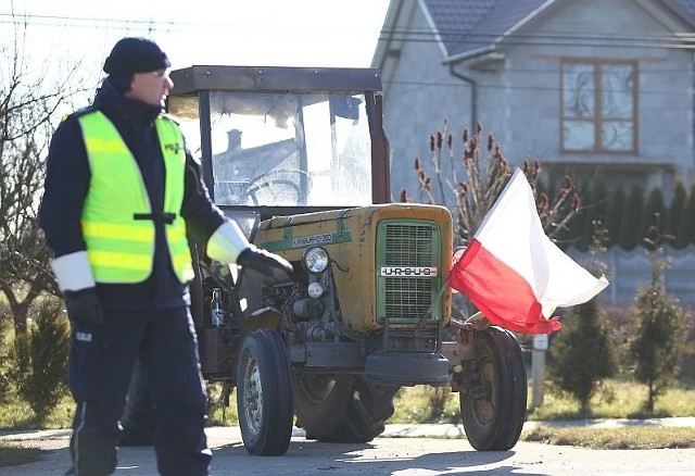
<svg viewBox="0 0 695 476">
<path fill-rule="evenodd" d="M 294 378 L 294 413 L 306 438 L 363 443 L 383 433 L 399 387 L 370 384 L 352 375 Z"/>
</svg>

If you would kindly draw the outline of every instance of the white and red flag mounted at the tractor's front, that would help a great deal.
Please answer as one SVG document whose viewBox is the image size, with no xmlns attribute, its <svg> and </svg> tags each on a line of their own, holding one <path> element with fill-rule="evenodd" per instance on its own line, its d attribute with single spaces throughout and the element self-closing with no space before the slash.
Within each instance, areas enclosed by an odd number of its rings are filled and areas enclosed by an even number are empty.
<svg viewBox="0 0 695 476">
<path fill-rule="evenodd" d="M 494 325 L 527 334 L 563 326 L 553 313 L 589 301 L 608 280 L 594 277 L 545 235 L 531 186 L 517 168 L 456 262 L 450 285 Z"/>
</svg>

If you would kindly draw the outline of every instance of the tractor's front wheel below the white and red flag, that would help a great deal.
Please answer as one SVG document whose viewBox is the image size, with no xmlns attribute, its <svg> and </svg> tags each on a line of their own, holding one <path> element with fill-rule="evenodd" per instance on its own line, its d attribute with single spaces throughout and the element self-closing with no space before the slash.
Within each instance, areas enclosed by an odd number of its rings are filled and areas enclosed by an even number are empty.
<svg viewBox="0 0 695 476">
<path fill-rule="evenodd" d="M 478 451 L 506 451 L 519 440 L 526 419 L 527 381 L 516 337 L 498 327 L 473 336 L 472 385 L 462 392 L 460 413 Z"/>
</svg>

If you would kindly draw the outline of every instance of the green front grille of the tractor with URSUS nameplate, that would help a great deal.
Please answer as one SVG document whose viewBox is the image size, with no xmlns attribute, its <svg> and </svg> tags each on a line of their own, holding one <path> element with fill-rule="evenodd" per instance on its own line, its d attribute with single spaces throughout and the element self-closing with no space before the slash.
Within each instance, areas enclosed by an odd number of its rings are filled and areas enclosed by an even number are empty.
<svg viewBox="0 0 695 476">
<path fill-rule="evenodd" d="M 417 322 L 427 312 L 440 286 L 440 233 L 433 222 L 387 222 L 380 227 L 379 253 L 382 304 L 380 317 Z M 384 267 L 392 274 L 384 275 Z M 438 275 L 419 275 L 438 268 Z M 393 272 L 395 270 L 395 272 Z M 406 274 L 399 276 L 397 274 Z"/>
</svg>

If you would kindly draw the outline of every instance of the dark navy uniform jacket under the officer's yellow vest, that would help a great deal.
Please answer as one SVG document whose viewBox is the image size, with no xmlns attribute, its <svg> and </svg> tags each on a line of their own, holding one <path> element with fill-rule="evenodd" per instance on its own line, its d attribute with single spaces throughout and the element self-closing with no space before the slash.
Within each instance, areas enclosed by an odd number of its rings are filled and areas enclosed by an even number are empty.
<svg viewBox="0 0 695 476">
<path fill-rule="evenodd" d="M 154 128 L 159 107 L 125 98 L 106 78 L 89 108 L 70 115 L 52 137 L 39 224 L 54 255 L 86 250 L 80 218 L 89 187 L 90 171 L 85 140 L 77 121 L 80 114 L 98 109 L 115 125 L 135 156 L 146 187 L 152 212 L 162 212 L 164 202 L 164 159 Z M 200 171 L 200 163 L 186 152 L 186 184 L 180 214 L 187 229 L 201 243 L 224 221 L 224 214 L 210 201 Z M 128 186 L 128 184 L 124 184 Z M 135 185 L 134 185 L 135 186 Z M 97 284 L 103 305 L 118 311 L 147 311 L 188 303 L 188 288 L 178 281 L 172 268 L 164 225 L 156 224 L 153 272 L 143 283 L 135 285 Z"/>
</svg>

